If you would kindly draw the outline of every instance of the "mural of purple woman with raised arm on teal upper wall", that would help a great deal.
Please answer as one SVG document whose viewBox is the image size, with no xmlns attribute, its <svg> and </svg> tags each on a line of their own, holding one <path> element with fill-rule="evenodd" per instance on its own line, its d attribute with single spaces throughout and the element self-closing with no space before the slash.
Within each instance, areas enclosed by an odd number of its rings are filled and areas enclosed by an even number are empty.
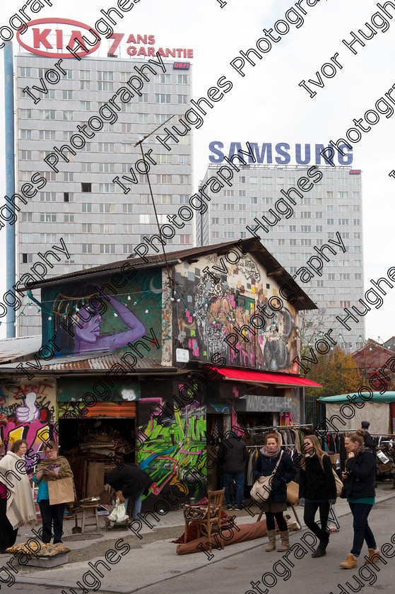
<svg viewBox="0 0 395 594">
<path fill-rule="evenodd" d="M 42 289 L 42 301 L 49 304 L 42 315 L 43 344 L 56 334 L 56 355 L 61 356 L 122 349 L 150 334 L 151 328 L 160 336 L 160 270 L 124 276 L 118 273 L 97 282 Z M 133 280 L 128 281 L 129 277 Z"/>
</svg>

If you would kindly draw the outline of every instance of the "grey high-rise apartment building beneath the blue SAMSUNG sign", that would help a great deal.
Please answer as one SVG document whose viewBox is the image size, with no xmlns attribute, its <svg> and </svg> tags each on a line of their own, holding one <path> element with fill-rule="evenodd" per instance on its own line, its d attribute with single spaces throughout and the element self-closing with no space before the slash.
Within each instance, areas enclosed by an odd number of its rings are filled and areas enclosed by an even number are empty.
<svg viewBox="0 0 395 594">
<path fill-rule="evenodd" d="M 231 186 L 224 183 L 218 193 L 204 188 L 211 200 L 207 201 L 206 213 L 196 219 L 197 245 L 237 241 L 255 232 L 319 307 L 318 311 L 307 314 L 301 332 L 308 337 L 314 331 L 317 334 L 319 330 L 325 332 L 334 328 L 332 336 L 338 344 L 345 349 L 355 349 L 356 344 L 362 344 L 361 337 L 365 337 L 365 318 L 355 316 L 359 318 L 358 323 L 349 320 L 349 331 L 336 316 L 345 318 L 343 308 L 353 305 L 363 310 L 358 301 L 363 297 L 360 170 L 317 165 L 322 179 L 314 181 L 307 175 L 309 165 L 242 165 L 237 159 L 234 164 L 240 171 L 233 171 Z M 221 165 L 208 167 L 201 187 Z M 317 178 L 317 169 L 315 171 Z M 313 170 L 310 173 L 312 175 Z M 309 183 L 298 185 L 302 177 Z M 290 188 L 295 188 L 300 196 L 288 192 Z M 283 192 L 288 192 L 290 199 Z M 277 202 L 279 199 L 283 200 Z M 345 252 L 341 245 L 336 245 L 339 236 Z M 329 245 L 332 251 L 323 249 L 324 245 Z M 324 255 L 320 256 L 319 252 Z M 319 270 L 318 258 L 322 260 L 322 270 Z M 303 272 L 303 267 L 308 272 Z M 309 275 L 312 275 L 309 282 L 303 282 Z"/>
</svg>

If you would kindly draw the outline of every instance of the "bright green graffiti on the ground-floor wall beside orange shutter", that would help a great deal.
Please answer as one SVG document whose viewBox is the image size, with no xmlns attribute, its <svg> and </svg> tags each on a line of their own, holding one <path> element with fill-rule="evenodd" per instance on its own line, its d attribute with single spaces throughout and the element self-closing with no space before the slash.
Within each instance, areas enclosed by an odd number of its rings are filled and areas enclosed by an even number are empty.
<svg viewBox="0 0 395 594">
<path fill-rule="evenodd" d="M 165 404 L 162 398 L 143 399 L 140 403 L 144 400 L 146 404 L 150 401 L 151 410 L 153 400 L 158 403 L 158 409 Z M 184 494 L 184 477 L 194 467 L 206 475 L 204 462 L 200 461 L 206 451 L 206 407 L 194 402 L 175 410 L 173 417 L 161 416 L 160 421 L 158 423 L 155 414 L 151 414 L 148 424 L 139 426 L 139 439 L 143 444 L 138 450 L 138 465 L 153 479 L 150 494 L 160 495 L 163 489 L 168 491 L 169 487 L 177 485 L 180 494 Z M 193 483 L 194 480 L 187 481 L 187 484 Z M 197 497 L 199 485 L 187 487 L 187 491 L 185 495 Z"/>
</svg>

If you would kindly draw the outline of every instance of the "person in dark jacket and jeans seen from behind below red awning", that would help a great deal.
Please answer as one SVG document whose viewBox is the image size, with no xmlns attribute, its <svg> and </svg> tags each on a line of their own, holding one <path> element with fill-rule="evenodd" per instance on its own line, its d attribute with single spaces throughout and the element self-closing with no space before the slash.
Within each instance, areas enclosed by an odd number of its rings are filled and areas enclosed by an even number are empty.
<svg viewBox="0 0 395 594">
<path fill-rule="evenodd" d="M 235 431 L 230 431 L 229 437 L 220 442 L 218 459 L 223 464 L 223 486 L 225 487 L 225 501 L 228 509 L 232 509 L 232 497 L 229 484 L 235 479 L 236 496 L 235 509 L 242 509 L 244 499 L 244 473 L 247 462 L 247 448 L 241 437 Z"/>
</svg>

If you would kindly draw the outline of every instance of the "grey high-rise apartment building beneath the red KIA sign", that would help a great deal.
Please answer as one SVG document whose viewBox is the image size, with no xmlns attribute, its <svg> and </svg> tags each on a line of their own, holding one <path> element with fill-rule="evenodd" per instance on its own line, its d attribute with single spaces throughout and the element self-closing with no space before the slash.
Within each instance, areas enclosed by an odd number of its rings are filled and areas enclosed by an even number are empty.
<svg viewBox="0 0 395 594">
<path fill-rule="evenodd" d="M 26 205 L 18 204 L 18 279 L 30 272 L 38 252 L 60 246 L 61 238 L 70 258 L 61 254 L 47 277 L 122 260 L 144 236 L 158 233 L 147 176 L 141 173 L 146 165 L 141 161 L 136 165 L 141 150 L 135 144 L 170 116 L 176 117 L 169 124 L 177 123 L 177 116 L 184 114 L 191 99 L 191 64 L 163 59 L 165 72 L 152 64 L 151 70 L 148 66 L 143 70 L 147 81 L 141 69 L 148 60 L 85 57 L 81 61 L 64 59 L 59 68 L 55 62 L 54 57 L 30 53 L 18 54 L 15 59 L 16 192 L 20 193 L 36 172 L 40 172 L 36 182 L 39 177 L 46 182 L 41 189 L 41 184 L 34 186 L 37 193 L 27 198 Z M 48 82 L 47 71 L 51 81 L 58 76 L 59 81 Z M 127 88 L 133 75 L 141 78 L 143 88 L 128 97 L 119 89 Z M 33 88 L 40 88 L 40 78 L 47 93 Z M 138 78 L 134 80 L 136 88 Z M 23 91 L 26 87 L 40 101 L 35 103 Z M 105 103 L 110 107 L 100 112 Z M 98 116 L 104 122 L 101 129 Z M 90 124 L 83 128 L 88 121 L 97 130 L 94 134 Z M 92 134 L 91 139 L 83 132 Z M 73 134 L 82 137 L 85 146 L 79 148 L 82 140 L 78 136 L 71 144 Z M 143 148 L 145 153 L 152 151 L 147 162 L 159 223 L 163 224 L 169 222 L 167 214 L 177 211 L 179 204 L 187 204 L 192 193 L 192 145 L 191 132 L 179 136 L 178 143 L 172 141 L 171 151 L 155 138 L 157 135 L 165 138 L 166 133 L 159 129 L 144 141 Z M 62 148 L 65 145 L 74 147 L 76 154 Z M 59 161 L 55 163 L 53 157 L 45 162 L 49 153 L 55 153 Z M 192 222 L 185 221 L 180 233 L 167 238 L 166 243 L 171 244 L 171 250 L 192 247 Z M 28 301 L 24 299 L 27 305 L 20 310 L 25 315 L 18 318 L 20 336 L 40 332 L 40 314 Z"/>
</svg>

